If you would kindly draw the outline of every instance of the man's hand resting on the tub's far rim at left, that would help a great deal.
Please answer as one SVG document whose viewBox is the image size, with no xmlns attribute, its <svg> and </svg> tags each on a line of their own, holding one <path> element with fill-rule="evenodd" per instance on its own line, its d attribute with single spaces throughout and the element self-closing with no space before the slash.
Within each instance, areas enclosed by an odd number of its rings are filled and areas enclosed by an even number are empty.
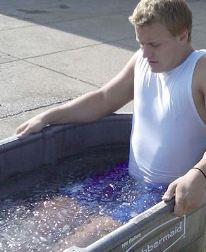
<svg viewBox="0 0 206 252">
<path fill-rule="evenodd" d="M 44 123 L 40 116 L 35 116 L 30 120 L 24 122 L 16 129 L 18 137 L 25 137 L 31 133 L 36 133 L 44 127 Z"/>
</svg>

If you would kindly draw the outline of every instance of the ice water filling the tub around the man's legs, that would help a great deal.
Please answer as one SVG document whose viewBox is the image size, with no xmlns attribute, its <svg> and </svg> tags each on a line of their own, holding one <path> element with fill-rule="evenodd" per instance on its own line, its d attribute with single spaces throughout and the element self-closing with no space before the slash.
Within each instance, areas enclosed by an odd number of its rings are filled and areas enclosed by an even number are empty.
<svg viewBox="0 0 206 252">
<path fill-rule="evenodd" d="M 64 160 L 1 185 L 0 251 L 86 247 L 161 199 L 128 174 L 125 149 Z"/>
</svg>

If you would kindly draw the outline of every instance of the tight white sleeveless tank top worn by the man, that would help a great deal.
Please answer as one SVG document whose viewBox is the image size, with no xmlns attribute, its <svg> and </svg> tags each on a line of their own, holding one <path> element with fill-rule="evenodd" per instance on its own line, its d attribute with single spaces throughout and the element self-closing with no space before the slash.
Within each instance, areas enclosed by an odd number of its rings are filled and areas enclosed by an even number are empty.
<svg viewBox="0 0 206 252">
<path fill-rule="evenodd" d="M 206 124 L 192 97 L 192 77 L 206 50 L 193 51 L 182 64 L 153 73 L 142 57 L 135 65 L 134 114 L 129 173 L 152 183 L 184 175 L 206 150 Z"/>
</svg>

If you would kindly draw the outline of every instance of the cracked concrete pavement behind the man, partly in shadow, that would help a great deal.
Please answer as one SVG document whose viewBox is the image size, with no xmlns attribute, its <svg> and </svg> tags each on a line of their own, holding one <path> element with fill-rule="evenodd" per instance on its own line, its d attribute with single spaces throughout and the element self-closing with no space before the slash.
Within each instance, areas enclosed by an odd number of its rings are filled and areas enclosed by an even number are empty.
<svg viewBox="0 0 206 252">
<path fill-rule="evenodd" d="M 188 1 L 193 45 L 205 48 L 206 1 Z M 137 50 L 136 0 L 0 1 L 0 138 L 20 123 L 121 70 Z M 131 111 L 132 106 L 122 109 Z"/>
</svg>

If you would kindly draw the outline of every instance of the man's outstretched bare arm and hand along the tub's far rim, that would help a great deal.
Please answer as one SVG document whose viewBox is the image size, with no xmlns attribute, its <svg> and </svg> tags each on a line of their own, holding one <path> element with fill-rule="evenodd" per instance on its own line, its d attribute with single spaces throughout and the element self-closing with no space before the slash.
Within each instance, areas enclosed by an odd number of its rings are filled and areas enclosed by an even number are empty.
<svg viewBox="0 0 206 252">
<path fill-rule="evenodd" d="M 127 104 L 133 99 L 137 53 L 122 71 L 102 88 L 36 115 L 21 124 L 16 134 L 19 137 L 26 136 L 51 124 L 92 122 Z"/>
</svg>

